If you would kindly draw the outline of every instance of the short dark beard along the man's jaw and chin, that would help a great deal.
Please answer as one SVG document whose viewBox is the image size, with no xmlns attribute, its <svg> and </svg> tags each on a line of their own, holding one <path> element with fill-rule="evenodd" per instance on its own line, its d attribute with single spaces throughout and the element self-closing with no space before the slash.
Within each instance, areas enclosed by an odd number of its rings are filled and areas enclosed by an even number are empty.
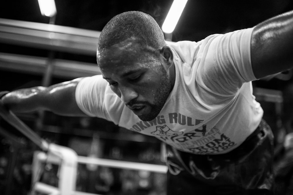
<svg viewBox="0 0 293 195">
<path fill-rule="evenodd" d="M 169 73 L 164 68 L 162 69 L 160 78 L 160 86 L 154 93 L 154 103 L 151 104 L 149 102 L 144 102 L 144 104 L 151 107 L 151 112 L 148 114 L 142 114 L 138 116 L 138 118 L 142 121 L 151 121 L 155 119 L 161 112 L 162 108 L 166 103 L 167 98 L 169 97 L 171 89 L 171 79 Z"/>
</svg>

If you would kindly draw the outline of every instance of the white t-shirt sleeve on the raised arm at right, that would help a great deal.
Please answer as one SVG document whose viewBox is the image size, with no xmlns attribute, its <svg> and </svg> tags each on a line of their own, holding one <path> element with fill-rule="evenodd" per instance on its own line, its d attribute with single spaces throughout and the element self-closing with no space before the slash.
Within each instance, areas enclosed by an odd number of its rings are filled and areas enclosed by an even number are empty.
<svg viewBox="0 0 293 195">
<path fill-rule="evenodd" d="M 253 28 L 221 35 L 203 41 L 197 82 L 219 95 L 234 95 L 243 83 L 256 80 L 251 66 Z"/>
</svg>

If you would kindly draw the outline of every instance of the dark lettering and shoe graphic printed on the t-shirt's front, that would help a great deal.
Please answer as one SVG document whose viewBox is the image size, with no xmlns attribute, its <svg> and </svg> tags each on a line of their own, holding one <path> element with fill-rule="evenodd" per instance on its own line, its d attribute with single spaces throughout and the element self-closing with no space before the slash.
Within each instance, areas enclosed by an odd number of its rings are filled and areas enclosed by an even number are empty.
<svg viewBox="0 0 293 195">
<path fill-rule="evenodd" d="M 139 121 L 130 130 L 155 136 L 179 150 L 194 154 L 217 154 L 236 146 L 216 126 L 208 128 L 207 124 L 200 126 L 202 123 L 204 120 L 169 113 L 152 121 Z"/>
</svg>

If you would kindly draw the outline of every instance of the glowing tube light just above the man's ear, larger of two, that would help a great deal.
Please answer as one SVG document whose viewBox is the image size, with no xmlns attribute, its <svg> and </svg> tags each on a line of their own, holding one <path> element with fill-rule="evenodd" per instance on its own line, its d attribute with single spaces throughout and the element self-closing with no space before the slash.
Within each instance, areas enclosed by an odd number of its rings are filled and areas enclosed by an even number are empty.
<svg viewBox="0 0 293 195">
<path fill-rule="evenodd" d="M 178 20 L 183 12 L 187 0 L 174 0 L 167 17 L 163 23 L 162 30 L 164 33 L 172 33 L 175 29 Z"/>
</svg>

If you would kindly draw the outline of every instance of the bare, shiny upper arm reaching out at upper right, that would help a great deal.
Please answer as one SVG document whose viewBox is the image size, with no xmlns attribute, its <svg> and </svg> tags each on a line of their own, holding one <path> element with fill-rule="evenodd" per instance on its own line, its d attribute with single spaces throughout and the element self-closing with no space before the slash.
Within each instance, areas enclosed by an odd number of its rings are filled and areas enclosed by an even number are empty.
<svg viewBox="0 0 293 195">
<path fill-rule="evenodd" d="M 251 63 L 258 79 L 293 68 L 293 11 L 255 26 Z"/>
</svg>

